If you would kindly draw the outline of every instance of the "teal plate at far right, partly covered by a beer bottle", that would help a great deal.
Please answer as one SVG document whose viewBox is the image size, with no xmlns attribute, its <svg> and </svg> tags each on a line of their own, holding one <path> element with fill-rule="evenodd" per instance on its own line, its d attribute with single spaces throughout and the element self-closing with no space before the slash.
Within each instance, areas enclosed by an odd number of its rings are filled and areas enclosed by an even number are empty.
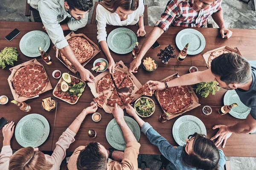
<svg viewBox="0 0 256 170">
<path fill-rule="evenodd" d="M 251 108 L 248 108 L 241 102 L 235 90 L 229 90 L 224 96 L 224 105 L 231 105 L 233 103 L 237 103 L 238 106 L 232 108 L 229 113 L 238 119 L 246 119 Z"/>
</svg>

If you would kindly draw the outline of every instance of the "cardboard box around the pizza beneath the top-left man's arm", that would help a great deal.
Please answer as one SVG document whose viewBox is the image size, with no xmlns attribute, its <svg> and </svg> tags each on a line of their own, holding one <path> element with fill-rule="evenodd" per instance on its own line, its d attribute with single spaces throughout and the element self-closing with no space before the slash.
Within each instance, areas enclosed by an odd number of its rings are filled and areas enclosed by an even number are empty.
<svg viewBox="0 0 256 170">
<path fill-rule="evenodd" d="M 90 57 L 89 59 L 87 59 L 85 62 L 81 63 L 81 65 L 84 67 L 84 65 L 86 65 L 94 56 L 96 56 L 96 54 L 99 53 L 99 51 L 101 51 L 98 47 L 98 45 L 96 45 L 94 42 L 92 42 L 88 37 L 86 37 L 84 34 L 75 34 L 74 31 L 70 32 L 70 34 L 68 34 L 65 38 L 66 40 L 69 40 L 72 37 L 84 37 L 86 40 L 88 40 L 90 42 L 90 45 L 92 45 L 93 47 L 93 56 Z M 58 48 L 56 48 L 56 46 L 52 47 L 55 51 L 56 51 L 56 57 L 58 58 L 58 60 L 60 60 L 60 62 L 62 62 L 68 69 L 70 69 L 70 71 L 72 71 L 73 73 L 77 73 L 77 69 L 74 66 L 69 66 L 66 65 L 66 63 L 63 61 L 63 59 L 61 58 L 61 54 L 60 54 L 60 50 Z"/>
</svg>

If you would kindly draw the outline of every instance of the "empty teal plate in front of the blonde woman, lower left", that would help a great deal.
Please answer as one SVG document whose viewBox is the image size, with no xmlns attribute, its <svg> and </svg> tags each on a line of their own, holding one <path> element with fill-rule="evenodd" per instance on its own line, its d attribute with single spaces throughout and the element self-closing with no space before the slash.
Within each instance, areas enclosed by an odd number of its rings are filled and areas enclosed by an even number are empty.
<svg viewBox="0 0 256 170">
<path fill-rule="evenodd" d="M 44 116 L 29 114 L 18 122 L 15 138 L 22 147 L 38 147 L 49 136 L 50 126 Z"/>
</svg>

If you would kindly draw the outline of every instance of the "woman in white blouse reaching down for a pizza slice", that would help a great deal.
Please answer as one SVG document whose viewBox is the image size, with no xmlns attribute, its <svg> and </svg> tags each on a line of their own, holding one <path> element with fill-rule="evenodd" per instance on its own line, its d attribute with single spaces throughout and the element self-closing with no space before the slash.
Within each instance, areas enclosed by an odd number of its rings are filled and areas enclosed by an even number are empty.
<svg viewBox="0 0 256 170">
<path fill-rule="evenodd" d="M 110 73 L 114 72 L 115 62 L 111 57 L 106 42 L 107 32 L 106 25 L 112 26 L 128 26 L 138 24 L 139 29 L 137 36 L 144 36 L 146 34 L 143 22 L 144 4 L 143 0 L 102 0 L 96 9 L 96 20 L 98 22 L 98 36 L 99 44 L 103 52 L 106 54 L 109 64 L 108 69 Z"/>
</svg>

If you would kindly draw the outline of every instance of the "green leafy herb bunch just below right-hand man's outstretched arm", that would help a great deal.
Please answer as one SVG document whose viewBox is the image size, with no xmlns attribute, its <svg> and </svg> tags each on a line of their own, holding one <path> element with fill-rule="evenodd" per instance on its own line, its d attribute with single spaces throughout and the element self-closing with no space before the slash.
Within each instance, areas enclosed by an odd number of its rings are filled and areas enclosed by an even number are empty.
<svg viewBox="0 0 256 170">
<path fill-rule="evenodd" d="M 207 97 L 210 93 L 215 95 L 216 91 L 220 90 L 220 87 L 217 85 L 218 82 L 200 82 L 196 84 L 196 93 L 200 94 L 202 97 Z"/>
</svg>

